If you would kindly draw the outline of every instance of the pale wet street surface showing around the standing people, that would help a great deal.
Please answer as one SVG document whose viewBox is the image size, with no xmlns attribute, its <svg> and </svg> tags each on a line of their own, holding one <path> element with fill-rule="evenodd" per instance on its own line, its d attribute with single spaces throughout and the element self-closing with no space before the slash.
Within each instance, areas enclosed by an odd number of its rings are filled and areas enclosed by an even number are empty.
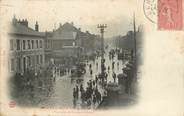
<svg viewBox="0 0 184 116">
<path fill-rule="evenodd" d="M 122 73 L 122 67 L 123 67 L 123 62 L 117 60 L 117 57 L 115 56 L 114 62 L 115 66 L 114 69 L 112 70 L 112 60 L 109 60 L 109 57 L 105 55 L 105 66 L 108 67 L 110 66 L 110 71 L 108 72 L 108 77 L 107 81 L 108 82 L 113 82 L 112 78 L 112 73 L 115 72 L 116 74 Z M 45 101 L 42 101 L 39 104 L 39 107 L 54 107 L 54 108 L 72 108 L 73 107 L 73 88 L 76 85 L 83 84 L 83 87 L 87 87 L 87 82 L 89 80 L 95 80 L 95 75 L 99 74 L 101 71 L 101 66 L 100 66 L 100 58 L 96 59 L 94 62 L 89 61 L 86 65 L 86 73 L 81 76 L 81 77 L 71 77 L 70 74 L 64 75 L 64 76 L 57 76 L 56 78 L 56 83 L 54 85 L 54 91 L 51 95 L 51 97 Z M 119 65 L 118 65 L 119 62 Z M 89 70 L 89 64 L 92 65 L 92 70 L 93 74 L 90 74 Z M 82 81 L 77 82 L 78 79 L 81 79 Z M 117 82 L 118 80 L 116 80 Z M 103 90 L 101 87 L 98 87 L 100 93 L 103 96 Z M 77 106 L 80 108 L 80 103 L 81 101 L 79 100 L 77 102 Z"/>
</svg>

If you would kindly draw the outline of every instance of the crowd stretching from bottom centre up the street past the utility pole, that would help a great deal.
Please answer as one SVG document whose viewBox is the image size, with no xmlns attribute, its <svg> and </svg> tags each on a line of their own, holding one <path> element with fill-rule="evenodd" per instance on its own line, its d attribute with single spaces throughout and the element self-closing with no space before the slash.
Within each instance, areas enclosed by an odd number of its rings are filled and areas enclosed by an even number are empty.
<svg viewBox="0 0 184 116">
<path fill-rule="evenodd" d="M 98 70 L 99 63 L 97 61 L 90 63 L 87 60 L 86 66 L 88 66 L 87 69 L 89 70 L 91 79 L 87 82 L 87 86 L 85 87 L 85 89 L 83 86 L 84 83 L 83 84 L 77 83 L 77 85 L 73 88 L 73 107 L 74 108 L 78 108 L 78 104 L 82 108 L 92 108 L 92 106 L 98 105 L 103 99 L 102 96 L 107 95 L 107 84 L 108 84 L 107 80 L 108 80 L 108 77 L 111 77 L 110 76 L 111 74 L 112 74 L 112 79 L 114 83 L 117 82 L 115 64 L 117 64 L 117 67 L 119 68 L 119 62 L 115 63 L 114 61 L 114 57 L 116 55 L 115 53 L 116 53 L 115 50 L 114 51 L 112 50 L 110 52 L 110 60 L 112 64 L 108 65 L 107 70 L 106 70 L 105 63 L 103 63 L 105 70 L 99 74 L 95 74 L 94 78 L 92 78 L 94 73 L 93 64 L 94 66 L 96 66 L 96 70 Z M 105 60 L 106 59 L 104 59 L 104 62 Z M 101 68 L 103 67 L 101 66 Z M 110 73 L 110 71 L 112 71 L 112 73 Z"/>
</svg>

